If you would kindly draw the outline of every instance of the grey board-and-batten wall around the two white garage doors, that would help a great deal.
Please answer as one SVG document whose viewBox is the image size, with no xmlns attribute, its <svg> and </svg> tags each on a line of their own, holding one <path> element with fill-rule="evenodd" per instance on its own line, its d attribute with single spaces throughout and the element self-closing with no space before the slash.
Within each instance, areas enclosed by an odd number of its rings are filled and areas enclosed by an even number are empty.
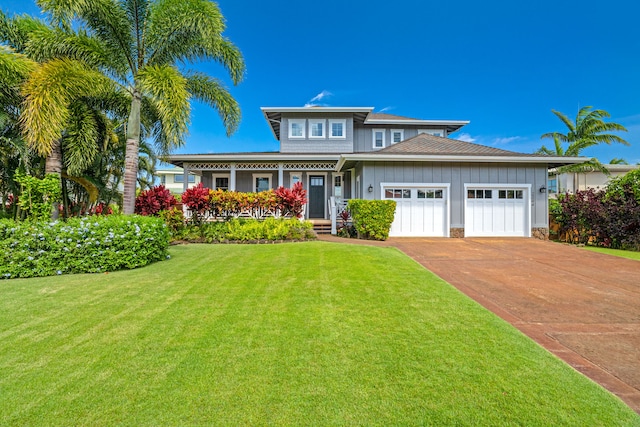
<svg viewBox="0 0 640 427">
<path fill-rule="evenodd" d="M 450 183 L 450 226 L 464 227 L 465 184 L 531 185 L 531 227 L 548 227 L 547 194 L 538 191 L 547 185 L 544 164 L 449 163 L 449 162 L 368 162 L 356 166 L 360 175 L 360 194 L 368 199 L 381 199 L 380 183 Z M 373 192 L 367 191 L 369 185 Z"/>
</svg>

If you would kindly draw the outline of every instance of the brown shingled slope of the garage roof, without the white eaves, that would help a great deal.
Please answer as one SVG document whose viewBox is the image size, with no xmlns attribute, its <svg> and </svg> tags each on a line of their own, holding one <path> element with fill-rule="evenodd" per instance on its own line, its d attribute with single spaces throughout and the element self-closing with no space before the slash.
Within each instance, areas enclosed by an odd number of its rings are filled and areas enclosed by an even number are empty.
<svg viewBox="0 0 640 427">
<path fill-rule="evenodd" d="M 472 155 L 472 156 L 528 156 L 529 154 L 501 150 L 486 145 L 421 133 L 372 154 Z"/>
</svg>

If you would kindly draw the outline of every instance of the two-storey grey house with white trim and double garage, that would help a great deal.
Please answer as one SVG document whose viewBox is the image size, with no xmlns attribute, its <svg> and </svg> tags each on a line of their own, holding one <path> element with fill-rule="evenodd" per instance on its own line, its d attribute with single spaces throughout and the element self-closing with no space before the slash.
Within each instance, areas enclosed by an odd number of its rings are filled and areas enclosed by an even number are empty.
<svg viewBox="0 0 640 427">
<path fill-rule="evenodd" d="M 261 191 L 302 182 L 311 220 L 330 219 L 331 201 L 389 199 L 397 202 L 391 236 L 546 238 L 547 170 L 585 161 L 449 137 L 468 121 L 413 119 L 372 107 L 262 112 L 279 151 L 180 154 L 169 162 L 209 188 Z"/>
</svg>

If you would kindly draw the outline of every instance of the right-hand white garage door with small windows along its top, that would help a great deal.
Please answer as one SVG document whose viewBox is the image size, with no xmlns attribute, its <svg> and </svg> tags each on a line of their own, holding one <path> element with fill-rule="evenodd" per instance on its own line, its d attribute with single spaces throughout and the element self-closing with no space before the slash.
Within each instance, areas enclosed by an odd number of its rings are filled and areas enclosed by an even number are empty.
<svg viewBox="0 0 640 427">
<path fill-rule="evenodd" d="M 529 188 L 466 186 L 464 235 L 529 237 Z"/>
</svg>

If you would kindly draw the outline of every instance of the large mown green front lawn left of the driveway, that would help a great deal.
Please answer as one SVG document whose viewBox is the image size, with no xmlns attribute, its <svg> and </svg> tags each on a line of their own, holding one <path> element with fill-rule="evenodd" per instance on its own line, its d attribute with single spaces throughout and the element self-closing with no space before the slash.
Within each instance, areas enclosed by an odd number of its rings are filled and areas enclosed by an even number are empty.
<svg viewBox="0 0 640 427">
<path fill-rule="evenodd" d="M 0 282 L 2 425 L 640 425 L 393 248 L 190 245 Z"/>
</svg>

